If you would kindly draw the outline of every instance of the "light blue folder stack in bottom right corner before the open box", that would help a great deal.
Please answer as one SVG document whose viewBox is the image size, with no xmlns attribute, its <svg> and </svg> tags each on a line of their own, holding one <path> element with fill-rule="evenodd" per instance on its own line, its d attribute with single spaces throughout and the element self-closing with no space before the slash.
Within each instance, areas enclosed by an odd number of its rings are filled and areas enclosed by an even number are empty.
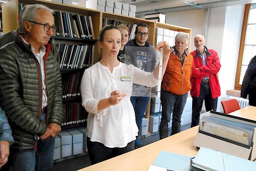
<svg viewBox="0 0 256 171">
<path fill-rule="evenodd" d="M 191 159 L 190 171 L 255 171 L 256 162 L 201 147 Z"/>
</svg>

